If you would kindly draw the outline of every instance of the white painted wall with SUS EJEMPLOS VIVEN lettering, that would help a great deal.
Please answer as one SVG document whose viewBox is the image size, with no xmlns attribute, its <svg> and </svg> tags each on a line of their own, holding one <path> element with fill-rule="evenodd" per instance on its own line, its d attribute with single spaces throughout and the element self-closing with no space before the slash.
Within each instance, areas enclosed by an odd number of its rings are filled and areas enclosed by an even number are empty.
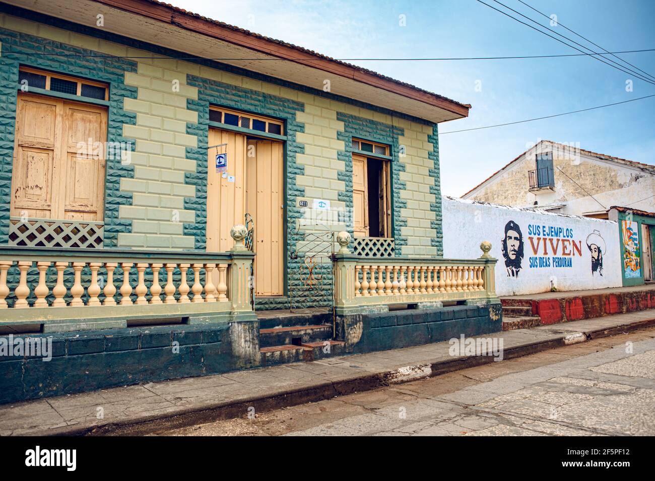
<svg viewBox="0 0 655 481">
<path fill-rule="evenodd" d="M 498 259 L 496 293 L 499 296 L 547 292 L 550 291 L 552 281 L 557 291 L 601 289 L 622 285 L 616 222 L 506 205 L 481 204 L 445 196 L 442 209 L 443 257 L 480 257 L 481 241 L 490 241 L 491 255 Z M 502 255 L 504 229 L 509 221 L 514 221 L 519 226 L 523 237 L 523 259 L 516 277 L 508 274 Z M 537 227 L 539 235 L 536 235 Z M 544 227 L 549 232 L 550 229 L 558 231 L 544 236 L 542 235 Z M 595 230 L 605 241 L 602 276 L 598 272 L 592 274 L 591 253 L 587 247 L 587 238 Z M 538 249 L 536 254 L 530 238 Z M 544 255 L 544 238 L 547 255 Z M 572 248 L 572 241 L 580 246 L 581 256 Z M 565 250 L 572 255 L 563 255 L 565 246 L 567 247 Z M 556 256 L 553 255 L 553 247 L 557 247 Z M 569 260 L 571 266 L 555 266 L 557 262 L 569 264 Z M 550 266 L 540 266 L 540 262 L 550 263 Z"/>
</svg>

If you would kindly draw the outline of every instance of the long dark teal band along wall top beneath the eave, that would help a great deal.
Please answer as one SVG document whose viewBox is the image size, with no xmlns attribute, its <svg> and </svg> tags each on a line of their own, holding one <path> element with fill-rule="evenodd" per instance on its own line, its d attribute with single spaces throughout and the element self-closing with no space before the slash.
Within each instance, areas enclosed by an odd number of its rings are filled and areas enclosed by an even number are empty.
<svg viewBox="0 0 655 481">
<path fill-rule="evenodd" d="M 226 63 L 220 63 L 220 62 L 215 62 L 214 60 L 206 60 L 204 58 L 195 57 L 186 52 L 179 52 L 177 50 L 172 50 L 170 48 L 162 48 L 161 46 L 153 45 L 151 43 L 141 42 L 135 39 L 130 39 L 128 37 L 123 37 L 122 35 L 116 35 L 115 33 L 110 33 L 107 31 L 100 31 L 93 27 L 88 27 L 81 24 L 75 24 L 73 22 L 68 22 L 67 20 L 54 18 L 52 16 L 40 14 L 37 12 L 33 12 L 31 10 L 22 9 L 20 7 L 13 7 L 11 5 L 0 3 L 0 12 L 5 12 L 10 15 L 26 18 L 34 22 L 41 22 L 43 24 L 48 24 L 54 27 L 75 31 L 76 33 L 81 33 L 83 35 L 88 35 L 90 37 L 105 39 L 115 43 L 120 43 L 122 45 L 131 46 L 133 48 L 139 48 L 141 50 L 146 50 L 163 56 L 183 57 L 185 58 L 185 62 L 197 63 L 198 65 L 206 65 L 207 67 L 233 73 L 234 75 L 242 75 L 243 77 L 248 77 L 250 79 L 261 80 L 263 82 L 268 82 L 270 84 L 292 88 L 293 90 L 297 90 L 299 92 L 306 92 L 314 96 L 347 103 L 348 105 L 354 105 L 356 107 L 361 107 L 363 109 L 367 109 L 373 112 L 379 112 L 386 115 L 393 115 L 397 118 L 404 118 L 405 120 L 409 120 L 411 122 L 417 122 L 419 124 L 424 124 L 424 125 L 432 124 L 432 122 L 428 120 L 424 120 L 423 118 L 415 117 L 413 115 L 408 115 L 401 112 L 395 112 L 390 109 L 385 109 L 384 107 L 372 105 L 370 103 L 366 103 L 357 99 L 351 99 L 351 98 L 335 95 L 332 94 L 331 92 L 324 92 L 323 90 L 318 88 L 312 88 L 305 85 L 296 84 L 294 82 L 288 82 L 287 80 L 276 79 L 275 77 L 271 77 L 270 75 L 256 73 L 253 71 L 242 69 L 240 67 L 234 67 L 233 65 L 227 65 Z M 221 105 L 221 102 L 217 103 L 217 105 Z"/>
</svg>

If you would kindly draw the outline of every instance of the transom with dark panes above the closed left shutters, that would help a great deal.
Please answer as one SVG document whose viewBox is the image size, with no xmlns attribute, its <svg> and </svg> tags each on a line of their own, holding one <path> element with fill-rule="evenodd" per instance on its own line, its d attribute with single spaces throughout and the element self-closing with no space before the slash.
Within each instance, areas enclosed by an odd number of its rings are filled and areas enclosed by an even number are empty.
<svg viewBox="0 0 655 481">
<path fill-rule="evenodd" d="M 42 88 L 43 90 L 50 90 L 50 92 L 60 92 L 96 100 L 109 99 L 109 86 L 103 82 L 79 79 L 31 67 L 20 67 L 18 69 L 18 83 L 21 86 L 26 85 L 28 92 L 29 88 Z"/>
</svg>

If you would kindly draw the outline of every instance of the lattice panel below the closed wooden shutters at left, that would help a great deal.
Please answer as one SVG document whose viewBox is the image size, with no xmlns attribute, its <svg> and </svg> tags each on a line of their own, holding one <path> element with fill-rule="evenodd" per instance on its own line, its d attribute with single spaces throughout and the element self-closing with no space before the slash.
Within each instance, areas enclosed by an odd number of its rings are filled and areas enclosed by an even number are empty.
<svg viewBox="0 0 655 481">
<path fill-rule="evenodd" d="M 105 224 L 96 221 L 12 217 L 9 245 L 29 247 L 102 247 Z"/>
</svg>

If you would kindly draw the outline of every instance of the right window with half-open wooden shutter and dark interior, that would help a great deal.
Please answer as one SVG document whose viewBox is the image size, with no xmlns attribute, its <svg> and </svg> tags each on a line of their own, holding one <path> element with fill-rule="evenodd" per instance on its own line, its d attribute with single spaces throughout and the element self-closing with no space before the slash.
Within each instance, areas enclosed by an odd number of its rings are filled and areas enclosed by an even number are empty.
<svg viewBox="0 0 655 481">
<path fill-rule="evenodd" d="M 356 144 L 357 143 L 357 144 Z M 367 144 L 367 145 L 366 145 Z M 388 145 L 352 140 L 353 149 L 371 156 L 352 154 L 352 204 L 355 237 L 391 237 L 391 164 Z M 364 147 L 364 149 L 362 149 Z"/>
</svg>

